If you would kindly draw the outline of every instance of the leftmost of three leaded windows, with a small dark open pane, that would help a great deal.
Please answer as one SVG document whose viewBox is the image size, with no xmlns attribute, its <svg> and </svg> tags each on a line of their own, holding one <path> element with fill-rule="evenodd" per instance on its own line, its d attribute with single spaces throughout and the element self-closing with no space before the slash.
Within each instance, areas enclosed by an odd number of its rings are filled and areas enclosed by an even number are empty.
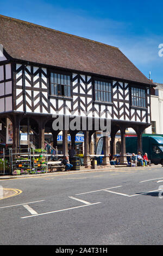
<svg viewBox="0 0 163 256">
<path fill-rule="evenodd" d="M 51 95 L 71 97 L 70 75 L 51 72 Z"/>
</svg>

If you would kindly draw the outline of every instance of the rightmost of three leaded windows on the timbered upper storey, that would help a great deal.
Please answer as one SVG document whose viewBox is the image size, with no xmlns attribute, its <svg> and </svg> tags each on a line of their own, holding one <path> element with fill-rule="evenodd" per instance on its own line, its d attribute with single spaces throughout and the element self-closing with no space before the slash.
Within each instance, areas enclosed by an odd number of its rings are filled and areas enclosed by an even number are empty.
<svg viewBox="0 0 163 256">
<path fill-rule="evenodd" d="M 131 105 L 134 107 L 146 107 L 146 90 L 136 87 L 131 88 Z"/>
</svg>

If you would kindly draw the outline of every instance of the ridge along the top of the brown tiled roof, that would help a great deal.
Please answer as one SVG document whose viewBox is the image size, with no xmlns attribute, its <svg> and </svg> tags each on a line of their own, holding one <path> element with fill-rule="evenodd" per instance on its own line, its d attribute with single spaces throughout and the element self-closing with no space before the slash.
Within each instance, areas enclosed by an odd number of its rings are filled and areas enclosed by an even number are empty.
<svg viewBox="0 0 163 256">
<path fill-rule="evenodd" d="M 36 27 L 46 28 L 46 29 L 49 29 L 49 30 L 51 30 L 51 31 L 55 31 L 55 32 L 58 32 L 58 33 L 61 33 L 61 34 L 65 34 L 65 35 L 69 35 L 69 36 L 74 36 L 74 37 L 76 37 L 76 38 L 84 39 L 84 40 L 86 40 L 86 41 L 95 42 L 95 43 L 97 43 L 97 44 L 105 45 L 105 46 L 107 46 L 107 47 L 112 47 L 112 48 L 115 48 L 115 49 L 117 49 L 117 50 L 120 50 L 120 49 L 119 49 L 118 47 L 116 47 L 116 46 L 104 44 L 103 42 L 98 42 L 98 41 L 91 40 L 91 39 L 88 39 L 88 38 L 83 38 L 82 36 L 73 35 L 73 34 L 69 34 L 69 33 L 66 33 L 66 32 L 58 31 L 58 30 L 56 30 L 56 29 L 48 28 L 48 27 L 41 26 L 41 25 L 37 25 L 37 24 L 32 23 L 32 22 L 28 22 L 28 21 L 23 21 L 23 20 L 15 19 L 15 18 L 12 18 L 12 17 L 9 17 L 9 16 L 5 16 L 5 15 L 2 15 L 2 14 L 0 14 L 0 17 L 4 17 L 4 18 L 10 19 L 10 20 L 14 20 L 14 21 L 18 21 L 18 22 L 23 22 L 23 23 L 30 24 L 30 25 L 33 25 L 33 26 L 36 26 Z"/>
</svg>

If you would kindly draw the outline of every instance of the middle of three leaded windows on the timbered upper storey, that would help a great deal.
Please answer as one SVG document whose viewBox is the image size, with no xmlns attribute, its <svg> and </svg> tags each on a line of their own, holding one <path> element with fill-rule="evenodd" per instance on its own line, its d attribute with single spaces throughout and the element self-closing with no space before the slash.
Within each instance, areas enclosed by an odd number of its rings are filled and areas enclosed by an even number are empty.
<svg viewBox="0 0 163 256">
<path fill-rule="evenodd" d="M 95 100 L 111 102 L 111 83 L 95 80 Z"/>
</svg>

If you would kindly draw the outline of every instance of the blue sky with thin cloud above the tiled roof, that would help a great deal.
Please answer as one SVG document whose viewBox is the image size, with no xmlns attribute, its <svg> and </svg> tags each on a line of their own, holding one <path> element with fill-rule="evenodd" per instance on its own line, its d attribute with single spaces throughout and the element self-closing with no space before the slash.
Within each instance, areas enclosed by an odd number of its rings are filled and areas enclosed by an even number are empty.
<svg viewBox="0 0 163 256">
<path fill-rule="evenodd" d="M 0 14 L 116 46 L 163 83 L 163 1 L 0 0 Z"/>
</svg>

